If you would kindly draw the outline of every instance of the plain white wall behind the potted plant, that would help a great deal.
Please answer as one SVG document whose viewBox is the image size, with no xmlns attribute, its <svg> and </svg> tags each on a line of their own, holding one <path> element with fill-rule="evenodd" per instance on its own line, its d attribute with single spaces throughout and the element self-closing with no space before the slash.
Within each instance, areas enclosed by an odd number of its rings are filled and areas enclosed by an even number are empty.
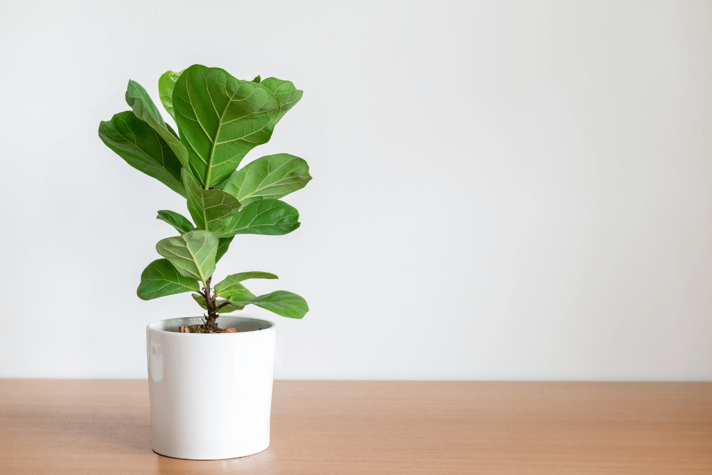
<svg viewBox="0 0 712 475">
<path fill-rule="evenodd" d="M 0 45 L 0 377 L 145 377 L 198 313 L 135 295 L 187 212 L 97 128 L 202 63 L 305 91 L 248 155 L 308 160 L 303 225 L 216 273 L 308 299 L 276 377 L 711 380 L 709 1 L 16 1 Z"/>
</svg>

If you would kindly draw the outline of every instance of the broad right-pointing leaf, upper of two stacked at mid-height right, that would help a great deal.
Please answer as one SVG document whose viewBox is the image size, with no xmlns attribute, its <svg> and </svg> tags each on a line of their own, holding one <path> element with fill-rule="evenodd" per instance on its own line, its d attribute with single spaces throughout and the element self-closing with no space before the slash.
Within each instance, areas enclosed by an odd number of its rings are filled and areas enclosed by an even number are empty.
<svg viewBox="0 0 712 475">
<path fill-rule="evenodd" d="M 258 199 L 281 198 L 303 188 L 310 179 L 307 162 L 278 153 L 248 163 L 230 177 L 223 189 L 246 206 Z"/>
</svg>

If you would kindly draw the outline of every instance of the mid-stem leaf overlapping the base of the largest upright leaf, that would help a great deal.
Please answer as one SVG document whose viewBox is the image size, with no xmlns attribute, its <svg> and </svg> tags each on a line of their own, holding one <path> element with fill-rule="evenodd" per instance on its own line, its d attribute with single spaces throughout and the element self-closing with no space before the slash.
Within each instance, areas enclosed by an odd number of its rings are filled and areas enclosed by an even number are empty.
<svg viewBox="0 0 712 475">
<path fill-rule="evenodd" d="M 183 169 L 183 184 L 188 192 L 188 211 L 199 229 L 222 236 L 230 216 L 240 209 L 240 202 L 219 189 L 202 189 L 187 169 Z"/>
</svg>

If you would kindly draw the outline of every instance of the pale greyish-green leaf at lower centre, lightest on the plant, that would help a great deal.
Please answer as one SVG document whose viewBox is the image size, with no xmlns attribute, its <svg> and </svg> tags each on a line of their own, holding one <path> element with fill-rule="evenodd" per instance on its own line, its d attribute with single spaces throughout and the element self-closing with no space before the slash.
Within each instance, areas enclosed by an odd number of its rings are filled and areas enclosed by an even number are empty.
<svg viewBox="0 0 712 475">
<path fill-rule="evenodd" d="M 218 236 L 210 231 L 190 231 L 182 236 L 161 239 L 156 251 L 176 266 L 182 276 L 202 283 L 215 271 Z"/>
</svg>

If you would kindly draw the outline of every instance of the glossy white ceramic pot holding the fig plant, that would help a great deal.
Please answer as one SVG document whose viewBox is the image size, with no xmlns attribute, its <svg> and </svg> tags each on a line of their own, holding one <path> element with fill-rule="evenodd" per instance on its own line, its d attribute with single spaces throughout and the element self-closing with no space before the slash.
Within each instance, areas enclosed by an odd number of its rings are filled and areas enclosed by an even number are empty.
<svg viewBox="0 0 712 475">
<path fill-rule="evenodd" d="M 269 447 L 274 323 L 218 318 L 243 333 L 177 333 L 201 318 L 146 327 L 151 444 L 177 459 L 232 459 Z M 258 330 L 257 330 L 258 329 Z"/>
</svg>

